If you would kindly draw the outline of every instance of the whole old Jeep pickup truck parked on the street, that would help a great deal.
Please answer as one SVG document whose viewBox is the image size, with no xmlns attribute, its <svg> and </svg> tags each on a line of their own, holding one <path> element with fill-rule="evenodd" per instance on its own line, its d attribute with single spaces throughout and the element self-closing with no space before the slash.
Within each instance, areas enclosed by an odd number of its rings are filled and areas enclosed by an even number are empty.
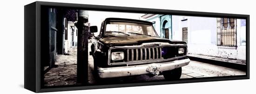
<svg viewBox="0 0 256 94">
<path fill-rule="evenodd" d="M 97 26 L 90 32 L 97 32 Z M 90 52 L 99 78 L 148 74 L 166 80 L 180 79 L 182 67 L 190 61 L 186 54 L 186 42 L 159 38 L 151 22 L 121 18 L 101 23 Z"/>
</svg>

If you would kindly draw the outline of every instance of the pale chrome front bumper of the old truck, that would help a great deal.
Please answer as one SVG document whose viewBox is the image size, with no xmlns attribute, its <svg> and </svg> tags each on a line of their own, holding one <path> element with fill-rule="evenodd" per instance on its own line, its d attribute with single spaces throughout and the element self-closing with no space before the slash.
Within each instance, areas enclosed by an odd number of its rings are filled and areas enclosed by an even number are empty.
<svg viewBox="0 0 256 94">
<path fill-rule="evenodd" d="M 174 60 L 174 61 L 163 62 L 163 63 L 151 63 L 151 64 L 135 65 L 135 66 L 127 66 L 127 67 L 109 67 L 109 68 L 98 67 L 98 74 L 100 78 L 112 78 L 112 77 L 149 74 L 149 72 L 146 71 L 148 66 L 156 66 L 159 72 L 162 72 L 162 71 L 168 71 L 178 67 L 186 66 L 189 64 L 189 62 L 190 62 L 189 59 L 183 59 L 183 60 Z"/>
</svg>

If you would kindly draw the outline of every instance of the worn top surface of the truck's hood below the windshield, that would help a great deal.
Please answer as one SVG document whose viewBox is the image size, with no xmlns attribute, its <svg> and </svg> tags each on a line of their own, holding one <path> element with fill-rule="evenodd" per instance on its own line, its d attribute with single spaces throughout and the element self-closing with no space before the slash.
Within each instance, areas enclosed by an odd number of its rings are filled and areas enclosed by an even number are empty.
<svg viewBox="0 0 256 94">
<path fill-rule="evenodd" d="M 108 46 L 141 45 L 147 42 L 168 42 L 170 44 L 187 44 L 184 41 L 168 40 L 152 36 L 108 36 L 100 39 L 100 42 Z"/>
</svg>

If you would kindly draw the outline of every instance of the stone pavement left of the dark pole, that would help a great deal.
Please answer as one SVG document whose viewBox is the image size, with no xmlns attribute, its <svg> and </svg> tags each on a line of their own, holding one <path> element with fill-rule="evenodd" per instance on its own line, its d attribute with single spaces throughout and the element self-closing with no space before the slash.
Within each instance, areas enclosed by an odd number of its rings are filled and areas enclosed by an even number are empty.
<svg viewBox="0 0 256 94">
<path fill-rule="evenodd" d="M 76 48 L 69 55 L 57 55 L 56 67 L 44 74 L 45 86 L 62 86 L 76 84 Z"/>
</svg>

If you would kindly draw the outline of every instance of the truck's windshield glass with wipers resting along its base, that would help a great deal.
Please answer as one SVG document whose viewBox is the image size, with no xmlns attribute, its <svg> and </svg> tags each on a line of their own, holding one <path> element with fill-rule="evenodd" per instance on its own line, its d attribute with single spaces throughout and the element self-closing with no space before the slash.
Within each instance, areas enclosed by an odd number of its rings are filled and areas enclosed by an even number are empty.
<svg viewBox="0 0 256 94">
<path fill-rule="evenodd" d="M 157 36 L 151 25 L 132 22 L 109 22 L 105 35 L 148 35 Z M 158 36 L 157 36 L 158 37 Z"/>
</svg>

